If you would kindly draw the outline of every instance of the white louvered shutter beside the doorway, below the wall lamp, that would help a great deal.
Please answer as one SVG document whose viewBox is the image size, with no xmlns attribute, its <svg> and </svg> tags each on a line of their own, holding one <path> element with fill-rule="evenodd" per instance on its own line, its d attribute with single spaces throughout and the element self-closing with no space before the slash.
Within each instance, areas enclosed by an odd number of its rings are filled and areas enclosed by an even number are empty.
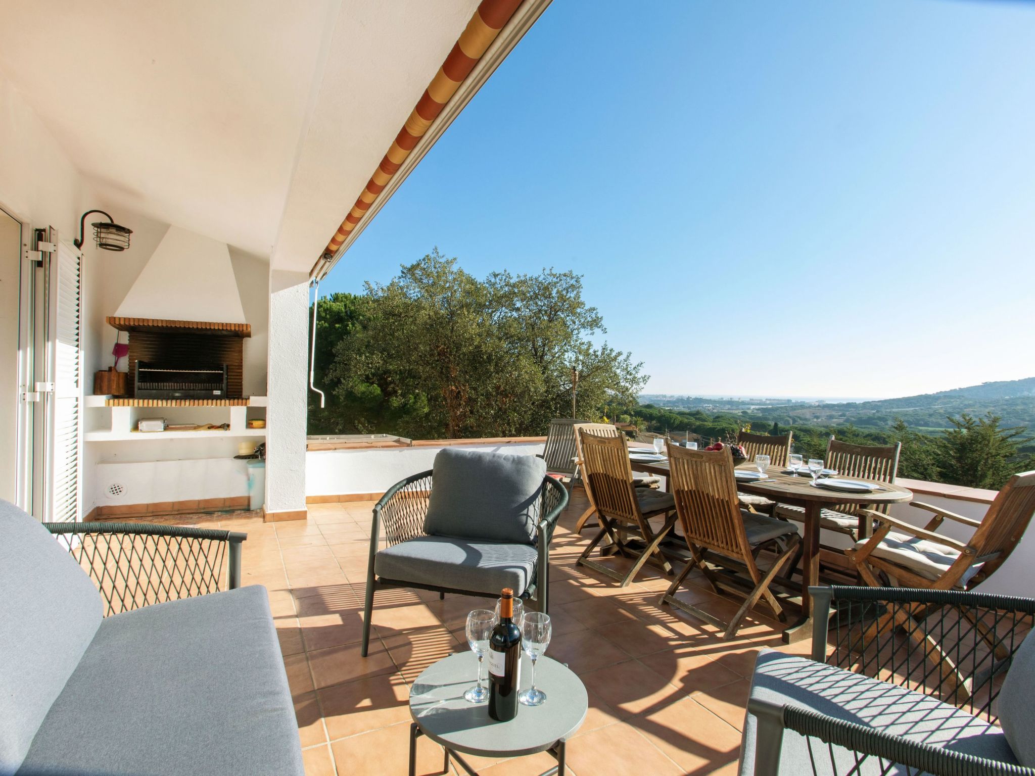
<svg viewBox="0 0 1035 776">
<path fill-rule="evenodd" d="M 53 523 L 82 518 L 81 406 L 83 394 L 82 257 L 64 242 L 51 259 L 50 350 L 54 393 L 49 413 L 48 470 L 50 493 L 47 519 Z"/>
</svg>

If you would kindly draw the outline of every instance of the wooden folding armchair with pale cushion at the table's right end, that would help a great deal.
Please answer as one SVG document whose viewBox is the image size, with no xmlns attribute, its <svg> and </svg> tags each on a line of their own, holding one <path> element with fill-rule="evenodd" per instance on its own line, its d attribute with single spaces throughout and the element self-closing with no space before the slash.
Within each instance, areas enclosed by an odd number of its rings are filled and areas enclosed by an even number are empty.
<svg viewBox="0 0 1035 776">
<path fill-rule="evenodd" d="M 874 588 L 890 585 L 926 590 L 973 590 L 1006 562 L 1028 529 L 1035 513 L 1035 472 L 1010 477 L 980 521 L 929 504 L 913 502 L 912 506 L 934 514 L 924 528 L 865 510 L 878 524 L 874 535 L 845 550 L 859 569 L 860 576 Z M 945 519 L 970 526 L 975 529 L 974 534 L 964 542 L 936 533 Z M 924 616 L 925 610 L 920 606 L 912 610 L 898 608 L 884 615 L 866 630 L 862 643 L 869 644 L 895 627 L 901 627 L 914 640 L 924 641 L 926 654 L 956 696 L 968 697 L 970 688 L 963 674 L 938 641 L 924 635 L 926 630 L 918 626 L 916 620 Z M 972 625 L 976 629 L 981 627 L 976 622 Z M 1003 647 L 996 635 L 982 632 L 982 636 L 998 657 Z"/>
</svg>

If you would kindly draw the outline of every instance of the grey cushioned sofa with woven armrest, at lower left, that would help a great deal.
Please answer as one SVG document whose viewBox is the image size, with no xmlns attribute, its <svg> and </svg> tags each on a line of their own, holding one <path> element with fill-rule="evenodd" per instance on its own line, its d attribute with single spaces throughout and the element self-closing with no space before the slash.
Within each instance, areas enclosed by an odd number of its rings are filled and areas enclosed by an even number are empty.
<svg viewBox="0 0 1035 776">
<path fill-rule="evenodd" d="M 266 591 L 214 592 L 243 538 L 0 501 L 0 776 L 301 776 Z"/>
</svg>

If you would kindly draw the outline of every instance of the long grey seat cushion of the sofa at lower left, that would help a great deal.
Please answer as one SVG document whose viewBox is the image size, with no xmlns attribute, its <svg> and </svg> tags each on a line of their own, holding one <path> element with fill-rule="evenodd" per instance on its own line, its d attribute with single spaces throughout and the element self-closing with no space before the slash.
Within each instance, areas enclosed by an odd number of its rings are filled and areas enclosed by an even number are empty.
<svg viewBox="0 0 1035 776">
<path fill-rule="evenodd" d="M 300 776 L 266 590 L 107 618 L 18 773 Z"/>
</svg>

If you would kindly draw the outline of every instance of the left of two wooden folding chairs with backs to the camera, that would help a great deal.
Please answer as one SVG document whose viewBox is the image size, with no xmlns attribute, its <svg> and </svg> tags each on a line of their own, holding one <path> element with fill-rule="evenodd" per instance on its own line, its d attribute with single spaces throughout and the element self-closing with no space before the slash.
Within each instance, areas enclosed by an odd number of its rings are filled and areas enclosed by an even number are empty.
<svg viewBox="0 0 1035 776">
<path fill-rule="evenodd" d="M 672 566 L 658 545 L 676 524 L 672 496 L 660 490 L 635 487 L 629 451 L 624 435 L 601 437 L 585 428 L 579 429 L 580 467 L 586 493 L 600 520 L 600 530 L 576 563 L 621 581 L 624 588 L 648 561 L 652 560 L 667 573 Z M 666 515 L 664 524 L 654 531 L 648 518 Z M 609 538 L 617 554 L 633 558 L 632 567 L 621 573 L 590 560 L 597 544 Z"/>
</svg>

